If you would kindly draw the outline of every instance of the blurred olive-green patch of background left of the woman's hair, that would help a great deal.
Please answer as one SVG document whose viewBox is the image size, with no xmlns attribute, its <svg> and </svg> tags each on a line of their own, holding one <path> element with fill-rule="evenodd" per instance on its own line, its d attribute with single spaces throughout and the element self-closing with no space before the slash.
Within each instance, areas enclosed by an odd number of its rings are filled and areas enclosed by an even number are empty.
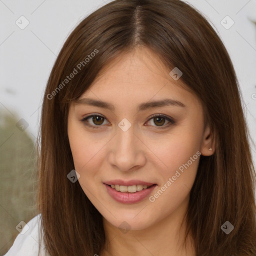
<svg viewBox="0 0 256 256">
<path fill-rule="evenodd" d="M 17 121 L 0 109 L 0 255 L 7 252 L 19 233 L 16 225 L 35 216 L 34 142 L 27 129 L 16 127 Z"/>
</svg>

